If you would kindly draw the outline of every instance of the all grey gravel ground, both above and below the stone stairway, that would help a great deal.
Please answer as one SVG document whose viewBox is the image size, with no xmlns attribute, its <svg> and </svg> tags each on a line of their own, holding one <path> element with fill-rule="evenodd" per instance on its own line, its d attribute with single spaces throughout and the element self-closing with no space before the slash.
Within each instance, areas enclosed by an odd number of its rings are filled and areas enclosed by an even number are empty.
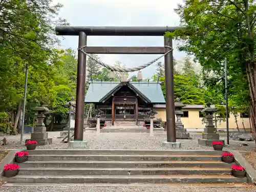
<svg viewBox="0 0 256 192">
<path fill-rule="evenodd" d="M 38 146 L 38 149 L 60 149 L 60 148 L 68 148 L 67 143 L 60 143 L 62 139 L 58 139 L 60 132 L 49 132 L 49 137 L 53 138 L 53 143 L 51 145 L 45 146 Z M 179 150 L 212 150 L 210 146 L 201 146 L 198 145 L 198 138 L 201 138 L 201 134 L 190 133 L 190 136 L 193 138 L 192 140 L 178 140 L 182 143 L 182 148 Z M 25 139 L 29 139 L 30 134 L 24 135 Z M 222 139 L 224 135 L 221 135 Z M 19 144 L 20 136 L 8 136 L 7 141 L 8 145 L 0 146 L 0 150 L 2 149 L 14 149 L 20 148 L 25 149 L 24 145 Z M 166 134 L 164 133 L 156 133 L 154 137 L 150 137 L 148 133 L 100 133 L 99 136 L 96 136 L 96 132 L 86 132 L 84 133 L 84 140 L 87 140 L 90 144 L 91 149 L 140 149 L 140 150 L 164 150 L 161 146 L 162 141 L 166 140 Z M 254 142 L 247 142 L 248 146 L 241 146 L 240 141 L 233 141 L 230 140 L 229 146 L 225 146 L 224 150 L 239 150 L 239 151 L 254 151 L 255 150 L 255 143 Z M 22 192 L 29 192 L 29 191 L 44 191 L 44 192 L 77 192 L 77 191 L 111 191 L 111 192 L 121 192 L 121 191 L 147 191 L 147 192 L 160 192 L 160 191 L 171 191 L 175 190 L 176 192 L 198 192 L 199 190 L 204 192 L 255 192 L 256 187 L 247 185 L 248 187 L 239 187 L 239 188 L 186 188 L 186 187 L 99 187 L 99 186 L 0 186 L 1 192 L 12 192 L 12 191 L 22 191 Z"/>
</svg>

